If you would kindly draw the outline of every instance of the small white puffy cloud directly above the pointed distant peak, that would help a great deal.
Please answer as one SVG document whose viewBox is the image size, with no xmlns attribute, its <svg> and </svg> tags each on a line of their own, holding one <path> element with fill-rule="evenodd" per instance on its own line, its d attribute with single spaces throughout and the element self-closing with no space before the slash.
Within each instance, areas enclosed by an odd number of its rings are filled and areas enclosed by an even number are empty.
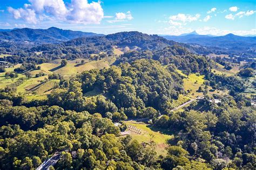
<svg viewBox="0 0 256 170">
<path fill-rule="evenodd" d="M 200 14 L 196 14 L 194 16 L 184 13 L 178 13 L 178 15 L 170 16 L 169 23 L 171 25 L 186 25 L 187 22 L 197 21 L 200 18 Z"/>
</svg>

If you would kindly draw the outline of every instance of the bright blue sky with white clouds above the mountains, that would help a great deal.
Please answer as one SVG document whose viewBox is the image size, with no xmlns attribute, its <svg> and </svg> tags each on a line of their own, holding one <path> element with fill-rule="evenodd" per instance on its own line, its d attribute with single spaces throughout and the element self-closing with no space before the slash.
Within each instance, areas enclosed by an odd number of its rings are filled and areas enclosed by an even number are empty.
<svg viewBox="0 0 256 170">
<path fill-rule="evenodd" d="M 256 35 L 256 0 L 1 0 L 0 28 Z"/>
</svg>

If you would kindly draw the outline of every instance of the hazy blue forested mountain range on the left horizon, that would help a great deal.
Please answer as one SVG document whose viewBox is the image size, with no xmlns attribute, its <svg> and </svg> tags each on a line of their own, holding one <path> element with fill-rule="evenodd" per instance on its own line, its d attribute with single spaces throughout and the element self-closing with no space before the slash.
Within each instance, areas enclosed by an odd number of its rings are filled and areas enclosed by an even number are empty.
<svg viewBox="0 0 256 170">
<path fill-rule="evenodd" d="M 32 42 L 35 44 L 61 43 L 79 37 L 102 36 L 92 32 L 62 30 L 55 27 L 49 29 L 14 29 L 0 31 L 0 39 L 15 42 Z"/>
</svg>

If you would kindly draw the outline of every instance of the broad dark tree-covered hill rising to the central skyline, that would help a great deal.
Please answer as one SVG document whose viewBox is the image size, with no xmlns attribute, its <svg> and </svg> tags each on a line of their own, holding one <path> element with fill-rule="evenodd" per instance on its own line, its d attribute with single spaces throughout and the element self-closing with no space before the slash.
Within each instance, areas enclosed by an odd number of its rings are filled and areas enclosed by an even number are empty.
<svg viewBox="0 0 256 170">
<path fill-rule="evenodd" d="M 203 46 L 190 46 L 183 43 L 177 43 L 167 40 L 157 35 L 147 35 L 145 33 L 131 31 L 118 32 L 107 36 L 94 36 L 76 38 L 62 44 L 43 44 L 33 47 L 29 52 L 44 51 L 44 54 L 55 53 L 67 55 L 89 55 L 99 52 L 112 51 L 113 46 L 121 48 L 123 51 L 129 50 L 161 50 L 168 46 L 179 45 L 186 47 L 192 53 L 208 53 Z M 53 52 L 56 51 L 56 52 Z"/>
</svg>

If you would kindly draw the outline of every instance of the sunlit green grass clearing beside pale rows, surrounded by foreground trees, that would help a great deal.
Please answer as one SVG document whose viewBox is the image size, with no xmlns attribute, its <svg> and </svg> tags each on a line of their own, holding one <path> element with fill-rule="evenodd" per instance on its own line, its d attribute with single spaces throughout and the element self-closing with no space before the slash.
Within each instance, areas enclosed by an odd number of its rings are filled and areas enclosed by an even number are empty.
<svg viewBox="0 0 256 170">
<path fill-rule="evenodd" d="M 144 123 L 137 123 L 136 121 L 125 121 L 126 125 L 132 125 L 137 127 L 142 131 L 142 134 L 131 133 L 133 139 L 138 140 L 138 142 L 149 142 L 150 134 L 153 134 L 153 141 L 156 142 L 156 151 L 159 155 L 166 155 L 165 147 L 167 147 L 167 140 L 174 138 L 173 135 L 160 133 L 158 131 L 153 131 Z"/>
</svg>

